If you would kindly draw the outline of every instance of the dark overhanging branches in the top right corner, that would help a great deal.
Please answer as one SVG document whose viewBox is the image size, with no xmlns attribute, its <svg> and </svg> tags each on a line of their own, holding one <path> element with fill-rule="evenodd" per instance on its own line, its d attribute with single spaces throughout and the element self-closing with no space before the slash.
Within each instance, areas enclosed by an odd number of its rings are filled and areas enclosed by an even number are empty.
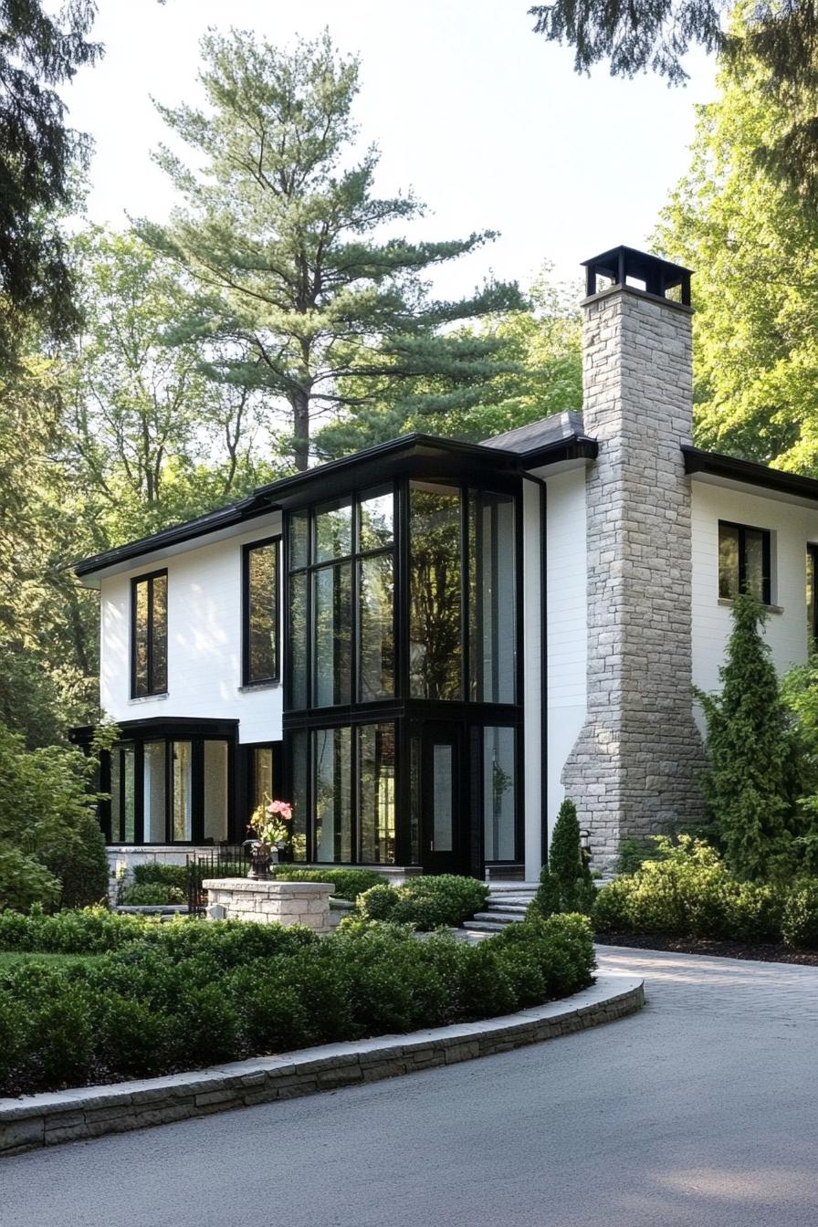
<svg viewBox="0 0 818 1227">
<path fill-rule="evenodd" d="M 574 48 L 587 72 L 603 60 L 616 76 L 652 71 L 687 80 L 692 45 L 717 52 L 737 79 L 764 70 L 764 96 L 779 108 L 755 151 L 800 199 L 818 204 L 818 10 L 811 0 L 553 0 L 529 10 L 535 31 Z M 738 15 L 740 21 L 731 20 Z"/>
</svg>

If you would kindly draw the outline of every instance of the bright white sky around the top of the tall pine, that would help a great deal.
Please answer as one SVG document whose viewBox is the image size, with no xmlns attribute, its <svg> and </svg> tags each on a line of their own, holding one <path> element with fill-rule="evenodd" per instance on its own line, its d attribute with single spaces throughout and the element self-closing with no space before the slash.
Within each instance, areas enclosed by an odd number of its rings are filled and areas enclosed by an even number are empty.
<svg viewBox="0 0 818 1227">
<path fill-rule="evenodd" d="M 489 271 L 527 283 L 545 259 L 573 280 L 583 259 L 645 247 L 688 166 L 694 103 L 713 94 L 713 63 L 690 56 L 690 83 L 573 71 L 570 48 L 531 33 L 530 0 L 99 0 L 104 60 L 65 91 L 70 121 L 96 141 L 88 212 L 126 225 L 162 220 L 173 194 L 150 151 L 166 137 L 151 96 L 199 97 L 199 38 L 208 26 L 273 43 L 329 26 L 362 59 L 357 118 L 381 148 L 378 189 L 413 187 L 430 209 L 415 237 L 502 238 L 437 279 L 468 293 Z"/>
</svg>

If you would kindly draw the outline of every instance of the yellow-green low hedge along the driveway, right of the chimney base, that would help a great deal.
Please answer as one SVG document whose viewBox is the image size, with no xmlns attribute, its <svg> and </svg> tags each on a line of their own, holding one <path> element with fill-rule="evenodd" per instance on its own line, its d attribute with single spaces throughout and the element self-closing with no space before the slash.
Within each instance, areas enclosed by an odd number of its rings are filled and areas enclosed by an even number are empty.
<svg viewBox="0 0 818 1227">
<path fill-rule="evenodd" d="M 818 948 L 818 880 L 740 882 L 704 840 L 657 840 L 663 856 L 644 861 L 597 894 L 597 933 L 665 934 Z"/>
</svg>

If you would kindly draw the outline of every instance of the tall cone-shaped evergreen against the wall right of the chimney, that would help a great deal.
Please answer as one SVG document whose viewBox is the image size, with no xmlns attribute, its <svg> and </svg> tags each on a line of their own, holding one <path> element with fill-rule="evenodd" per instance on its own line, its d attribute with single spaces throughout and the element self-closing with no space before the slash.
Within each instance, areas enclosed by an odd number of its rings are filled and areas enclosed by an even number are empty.
<svg viewBox="0 0 818 1227">
<path fill-rule="evenodd" d="M 795 736 L 781 701 L 765 612 L 742 595 L 719 671 L 720 694 L 697 691 L 708 726 L 701 785 L 728 869 L 742 879 L 781 872 L 795 829 Z"/>
</svg>

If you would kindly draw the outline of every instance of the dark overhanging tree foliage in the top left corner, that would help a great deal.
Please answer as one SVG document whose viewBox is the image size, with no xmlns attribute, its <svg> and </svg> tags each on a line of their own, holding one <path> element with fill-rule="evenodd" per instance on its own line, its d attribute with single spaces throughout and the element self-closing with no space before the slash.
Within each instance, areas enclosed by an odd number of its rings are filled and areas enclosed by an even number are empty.
<svg viewBox="0 0 818 1227">
<path fill-rule="evenodd" d="M 42 0 L 0 0 L 0 368 L 23 320 L 53 337 L 77 321 L 70 259 L 55 213 L 72 199 L 85 137 L 65 123 L 55 87 L 101 48 L 90 42 L 96 5 L 69 0 L 59 17 Z"/>
</svg>

